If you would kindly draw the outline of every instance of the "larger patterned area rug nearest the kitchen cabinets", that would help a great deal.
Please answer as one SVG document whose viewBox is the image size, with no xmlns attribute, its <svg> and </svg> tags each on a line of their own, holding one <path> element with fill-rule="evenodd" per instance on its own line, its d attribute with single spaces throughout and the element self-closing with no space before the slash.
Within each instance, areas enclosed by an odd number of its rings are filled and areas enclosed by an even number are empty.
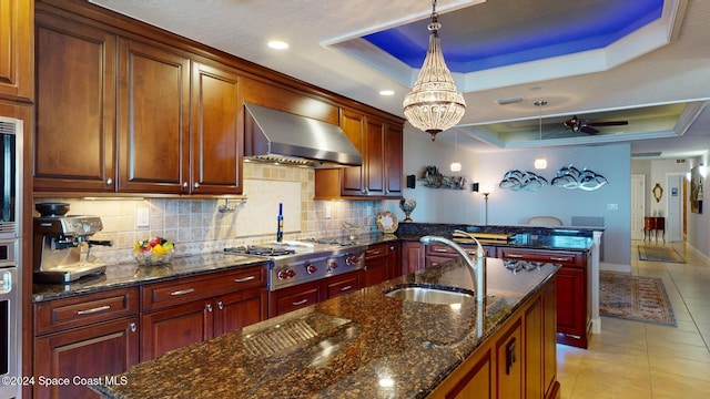
<svg viewBox="0 0 710 399">
<path fill-rule="evenodd" d="M 677 327 L 660 278 L 599 272 L 599 314 Z"/>
</svg>

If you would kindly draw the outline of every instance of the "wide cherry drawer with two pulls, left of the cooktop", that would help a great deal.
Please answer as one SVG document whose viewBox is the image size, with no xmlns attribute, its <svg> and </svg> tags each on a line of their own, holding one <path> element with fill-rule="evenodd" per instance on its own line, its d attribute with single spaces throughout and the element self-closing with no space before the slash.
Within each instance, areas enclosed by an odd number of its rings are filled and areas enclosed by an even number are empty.
<svg viewBox="0 0 710 399">
<path fill-rule="evenodd" d="M 266 266 L 155 283 L 141 287 L 142 309 L 160 309 L 190 300 L 265 285 Z"/>
</svg>

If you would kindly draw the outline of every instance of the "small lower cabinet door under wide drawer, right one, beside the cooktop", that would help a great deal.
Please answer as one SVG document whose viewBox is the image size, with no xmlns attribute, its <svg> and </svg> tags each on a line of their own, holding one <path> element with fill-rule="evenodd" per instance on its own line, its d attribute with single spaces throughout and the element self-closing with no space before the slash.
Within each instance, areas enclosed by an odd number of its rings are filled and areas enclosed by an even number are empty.
<svg viewBox="0 0 710 399">
<path fill-rule="evenodd" d="M 237 330 L 265 320 L 268 313 L 266 288 L 245 289 L 215 298 L 214 335 Z"/>
</svg>

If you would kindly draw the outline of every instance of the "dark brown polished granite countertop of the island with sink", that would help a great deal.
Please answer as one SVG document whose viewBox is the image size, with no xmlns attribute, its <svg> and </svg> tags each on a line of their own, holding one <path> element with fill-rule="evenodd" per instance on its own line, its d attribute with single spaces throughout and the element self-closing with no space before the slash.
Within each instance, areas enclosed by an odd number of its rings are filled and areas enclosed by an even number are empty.
<svg viewBox="0 0 710 399">
<path fill-rule="evenodd" d="M 485 313 L 475 299 L 452 307 L 383 294 L 410 283 L 473 289 L 453 259 L 170 351 L 113 380 L 125 383 L 92 388 L 109 398 L 425 397 L 558 268 L 513 275 L 488 258 Z"/>
</svg>

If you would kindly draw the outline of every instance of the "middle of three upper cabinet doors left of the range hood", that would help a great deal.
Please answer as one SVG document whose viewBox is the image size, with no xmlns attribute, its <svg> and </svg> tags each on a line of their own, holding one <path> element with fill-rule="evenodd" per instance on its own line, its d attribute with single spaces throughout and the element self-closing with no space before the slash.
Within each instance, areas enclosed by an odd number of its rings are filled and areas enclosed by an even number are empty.
<svg viewBox="0 0 710 399">
<path fill-rule="evenodd" d="M 119 43 L 119 192 L 190 193 L 190 60 Z"/>
</svg>

